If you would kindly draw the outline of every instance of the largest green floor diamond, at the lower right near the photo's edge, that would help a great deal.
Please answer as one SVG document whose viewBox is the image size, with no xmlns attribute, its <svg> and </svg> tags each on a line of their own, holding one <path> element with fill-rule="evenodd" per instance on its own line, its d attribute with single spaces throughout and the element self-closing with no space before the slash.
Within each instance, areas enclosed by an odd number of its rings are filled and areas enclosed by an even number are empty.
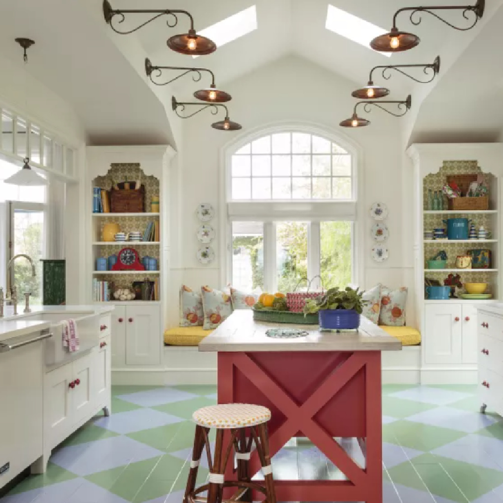
<svg viewBox="0 0 503 503">
<path fill-rule="evenodd" d="M 503 484 L 503 473 L 497 470 L 423 454 L 389 470 L 396 484 L 419 490 L 427 489 L 459 503 L 473 501 Z"/>
</svg>

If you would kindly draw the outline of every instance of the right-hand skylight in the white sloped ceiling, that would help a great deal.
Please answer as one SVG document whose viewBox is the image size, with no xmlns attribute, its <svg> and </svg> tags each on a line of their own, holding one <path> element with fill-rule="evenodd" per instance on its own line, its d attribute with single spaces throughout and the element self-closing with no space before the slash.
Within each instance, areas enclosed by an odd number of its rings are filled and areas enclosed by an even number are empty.
<svg viewBox="0 0 503 503">
<path fill-rule="evenodd" d="M 387 33 L 387 30 L 353 16 L 346 11 L 337 9 L 337 7 L 330 4 L 328 5 L 325 28 L 353 42 L 364 45 L 371 50 L 373 49 L 370 46 L 370 41 L 383 33 Z M 380 54 L 390 57 L 392 53 L 381 52 Z"/>
</svg>

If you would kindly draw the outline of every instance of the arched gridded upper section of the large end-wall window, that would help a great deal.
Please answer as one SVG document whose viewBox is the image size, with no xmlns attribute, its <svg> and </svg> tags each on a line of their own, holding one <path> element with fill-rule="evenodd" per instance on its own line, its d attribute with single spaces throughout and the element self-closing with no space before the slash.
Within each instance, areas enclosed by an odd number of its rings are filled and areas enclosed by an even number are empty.
<svg viewBox="0 0 503 503">
<path fill-rule="evenodd" d="M 302 132 L 258 138 L 231 158 L 231 199 L 352 199 L 351 154 L 333 141 Z"/>
</svg>

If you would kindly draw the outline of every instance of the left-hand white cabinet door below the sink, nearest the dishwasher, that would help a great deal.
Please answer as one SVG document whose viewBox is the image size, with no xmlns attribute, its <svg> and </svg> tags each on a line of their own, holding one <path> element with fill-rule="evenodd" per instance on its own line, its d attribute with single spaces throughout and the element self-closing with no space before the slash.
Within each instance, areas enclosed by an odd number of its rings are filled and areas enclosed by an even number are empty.
<svg viewBox="0 0 503 503">
<path fill-rule="evenodd" d="M 44 376 L 44 445 L 52 449 L 70 432 L 73 423 L 72 398 L 75 388 L 73 364 L 69 363 Z"/>
</svg>

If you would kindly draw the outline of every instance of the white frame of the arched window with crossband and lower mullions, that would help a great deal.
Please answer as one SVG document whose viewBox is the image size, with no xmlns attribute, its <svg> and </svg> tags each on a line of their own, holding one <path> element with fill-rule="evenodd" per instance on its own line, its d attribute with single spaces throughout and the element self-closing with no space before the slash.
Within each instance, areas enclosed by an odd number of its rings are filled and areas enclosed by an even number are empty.
<svg viewBox="0 0 503 503">
<path fill-rule="evenodd" d="M 306 201 L 233 201 L 232 200 L 232 155 L 247 143 L 263 136 L 281 132 L 303 132 L 324 137 L 340 145 L 351 154 L 351 179 L 352 197 L 350 200 L 313 200 Z M 233 221 L 261 221 L 264 222 L 264 246 L 274 247 L 264 249 L 264 288 L 275 290 L 275 230 L 272 222 L 275 221 L 305 221 L 308 225 L 308 276 L 310 278 L 319 274 L 319 258 L 309 260 L 315 254 L 319 257 L 320 251 L 320 222 L 332 220 L 352 221 L 352 256 L 351 256 L 351 283 L 364 284 L 364 223 L 360 216 L 364 215 L 363 208 L 363 151 L 362 148 L 350 138 L 333 134 L 327 129 L 306 123 L 276 123 L 274 125 L 257 128 L 251 133 L 242 133 L 237 139 L 223 146 L 220 158 L 221 166 L 221 194 L 224 202 L 221 205 L 220 220 L 223 223 L 223 232 L 220 234 L 221 249 L 221 283 L 227 285 L 232 279 L 232 222 Z M 274 278 L 274 279 L 272 279 Z M 319 288 L 319 284 L 313 284 Z"/>
</svg>

